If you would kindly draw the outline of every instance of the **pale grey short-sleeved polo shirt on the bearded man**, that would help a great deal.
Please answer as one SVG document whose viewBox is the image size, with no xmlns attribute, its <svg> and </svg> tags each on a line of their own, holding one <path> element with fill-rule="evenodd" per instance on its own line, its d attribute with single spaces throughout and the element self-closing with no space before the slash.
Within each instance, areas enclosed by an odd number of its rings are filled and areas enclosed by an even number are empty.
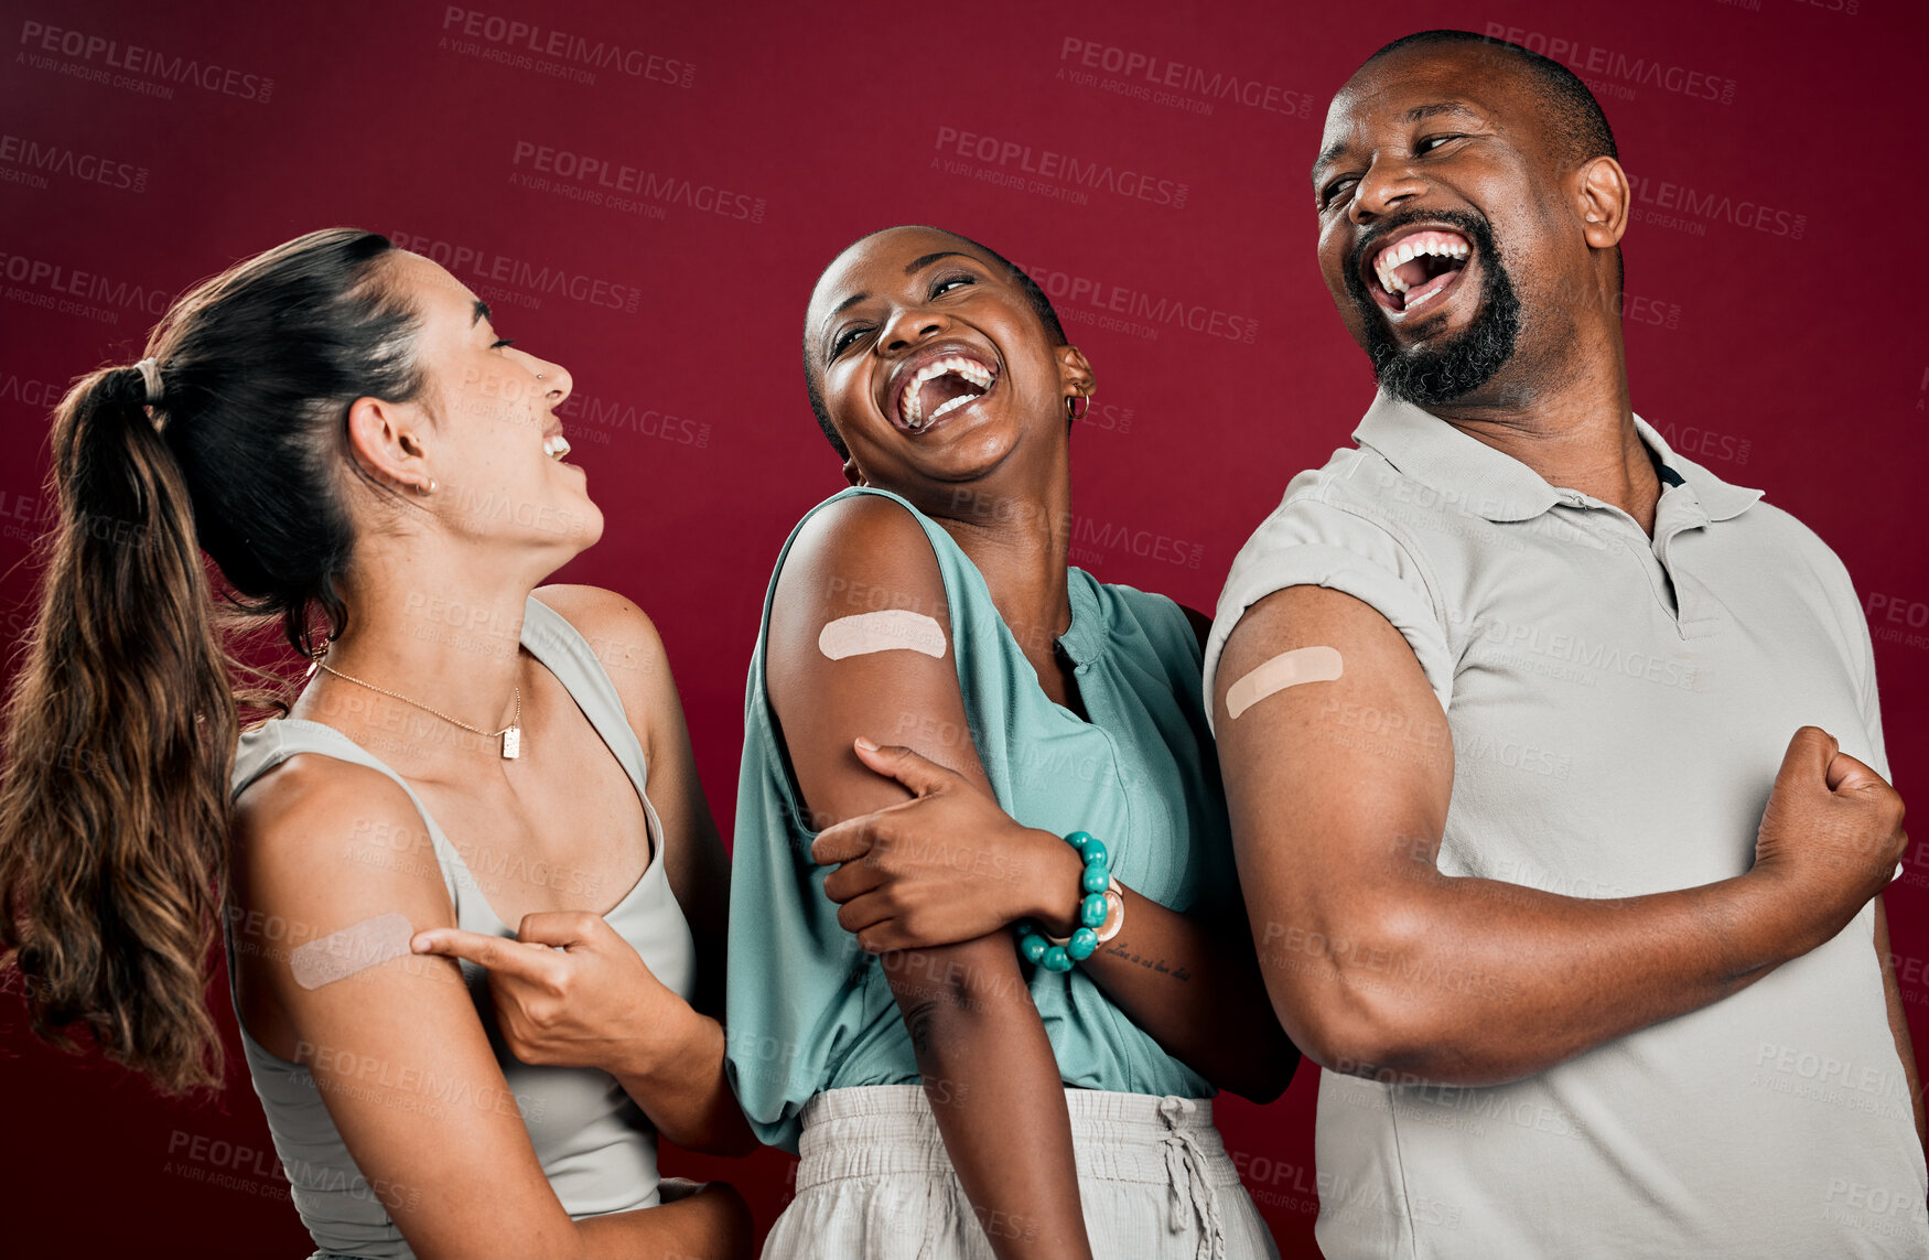
<svg viewBox="0 0 1929 1260">
<path fill-rule="evenodd" d="M 1869 633 L 1813 533 L 1636 426 L 1663 467 L 1651 540 L 1381 396 L 1358 450 L 1294 477 L 1233 562 L 1208 712 L 1246 608 L 1345 590 L 1447 710 L 1445 874 L 1622 897 L 1746 872 L 1798 726 L 1888 774 Z M 1414 737 L 1414 756 L 1445 751 Z M 1329 1260 L 1929 1256 L 1871 907 L 1765 980 L 1526 1081 L 1323 1073 L 1316 1150 Z"/>
</svg>

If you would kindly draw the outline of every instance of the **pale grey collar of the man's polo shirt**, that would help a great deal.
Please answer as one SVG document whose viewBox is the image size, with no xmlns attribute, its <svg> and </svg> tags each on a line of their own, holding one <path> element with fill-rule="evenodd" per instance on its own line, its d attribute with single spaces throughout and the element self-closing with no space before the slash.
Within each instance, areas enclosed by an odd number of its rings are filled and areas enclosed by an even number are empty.
<svg viewBox="0 0 1929 1260">
<path fill-rule="evenodd" d="M 1634 417 L 1634 428 L 1659 455 L 1667 486 L 1688 486 L 1709 521 L 1736 517 L 1761 498 L 1761 490 L 1730 486 L 1701 465 L 1676 455 L 1640 415 Z M 1373 405 L 1352 430 L 1352 440 L 1383 455 L 1402 477 L 1439 490 L 1445 500 L 1489 521 L 1532 521 L 1566 500 L 1512 455 L 1387 394 L 1373 396 Z"/>
</svg>

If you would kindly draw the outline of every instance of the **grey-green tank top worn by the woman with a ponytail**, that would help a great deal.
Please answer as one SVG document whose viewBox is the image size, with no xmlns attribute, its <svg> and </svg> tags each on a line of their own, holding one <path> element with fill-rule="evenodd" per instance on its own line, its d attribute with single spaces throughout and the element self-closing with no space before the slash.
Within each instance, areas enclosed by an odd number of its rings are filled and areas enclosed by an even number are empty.
<svg viewBox="0 0 1929 1260">
<path fill-rule="evenodd" d="M 583 635 L 534 596 L 523 619 L 523 646 L 563 683 L 637 785 L 650 830 L 650 866 L 604 920 L 637 949 L 658 980 L 689 1000 L 696 984 L 696 949 L 683 909 L 664 874 L 664 826 L 644 791 L 648 764 L 637 733 L 623 716 L 615 683 Z M 301 718 L 280 718 L 245 731 L 235 756 L 233 793 L 239 795 L 297 753 L 318 753 L 368 766 L 401 783 L 428 828 L 457 926 L 515 938 L 515 928 L 503 924 L 482 895 L 490 880 L 478 884 L 476 874 L 463 863 L 461 853 L 442 834 L 409 783 L 341 731 Z M 233 986 L 235 951 L 228 915 L 222 915 L 222 926 L 228 940 L 228 980 Z M 584 1218 L 656 1206 L 656 1131 L 615 1077 L 592 1067 L 538 1067 L 515 1059 L 496 1028 L 486 972 L 473 963 L 463 963 L 461 969 L 513 1106 L 523 1113 L 529 1140 L 563 1210 L 571 1218 Z M 239 1005 L 235 1019 L 241 1019 Z M 361 1175 L 328 1117 L 309 1069 L 262 1050 L 247 1027 L 241 1028 L 241 1048 L 255 1079 L 255 1092 L 268 1113 L 268 1129 L 287 1173 L 295 1210 L 316 1246 L 368 1260 L 413 1260 L 415 1252 L 382 1206 L 395 1202 L 405 1191 L 370 1185 Z M 463 1090 L 465 1086 L 424 1073 L 421 1090 L 424 1117 L 449 1106 L 496 1106 L 490 1100 L 457 1098 L 455 1094 Z M 507 1100 L 496 1102 L 509 1106 Z M 465 1164 L 473 1156 L 451 1150 L 448 1158 Z"/>
</svg>

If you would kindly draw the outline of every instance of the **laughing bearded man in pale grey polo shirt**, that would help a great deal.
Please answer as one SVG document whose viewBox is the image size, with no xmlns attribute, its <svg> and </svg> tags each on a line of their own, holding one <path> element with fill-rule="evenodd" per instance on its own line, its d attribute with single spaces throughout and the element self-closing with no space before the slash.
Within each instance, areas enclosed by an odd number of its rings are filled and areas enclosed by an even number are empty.
<svg viewBox="0 0 1929 1260">
<path fill-rule="evenodd" d="M 1267 990 L 1327 1069 L 1319 1246 L 1923 1256 L 1869 633 L 1815 534 L 1634 413 L 1615 154 L 1566 68 L 1462 31 L 1327 114 L 1319 266 L 1379 397 L 1206 650 Z"/>
</svg>

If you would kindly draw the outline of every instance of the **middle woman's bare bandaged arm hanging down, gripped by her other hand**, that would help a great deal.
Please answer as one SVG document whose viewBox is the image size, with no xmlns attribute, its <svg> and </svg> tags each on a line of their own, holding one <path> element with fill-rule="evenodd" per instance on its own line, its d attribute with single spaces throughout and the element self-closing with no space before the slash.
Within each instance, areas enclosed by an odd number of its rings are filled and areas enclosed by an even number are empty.
<svg viewBox="0 0 1929 1260">
<path fill-rule="evenodd" d="M 932 627 L 945 639 L 941 654 L 930 650 Z M 910 799 L 856 758 L 858 735 L 914 749 L 992 791 L 949 627 L 937 558 L 909 511 L 855 498 L 802 527 L 777 579 L 766 689 L 812 830 Z M 876 965 L 972 1208 L 982 1221 L 1024 1221 L 988 1231 L 992 1252 L 1088 1258 L 1063 1081 L 1013 936 L 887 953 Z"/>
</svg>

